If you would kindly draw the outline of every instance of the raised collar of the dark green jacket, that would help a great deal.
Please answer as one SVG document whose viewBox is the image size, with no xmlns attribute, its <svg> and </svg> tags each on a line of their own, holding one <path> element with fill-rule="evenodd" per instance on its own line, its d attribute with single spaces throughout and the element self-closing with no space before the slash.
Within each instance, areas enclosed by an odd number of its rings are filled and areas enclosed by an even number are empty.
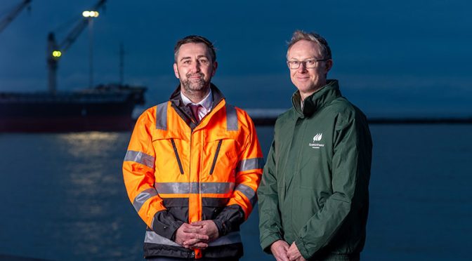
<svg viewBox="0 0 472 261">
<path fill-rule="evenodd" d="M 294 95 L 291 96 L 291 104 L 295 112 L 303 118 L 313 115 L 318 109 L 340 96 L 341 91 L 339 91 L 338 80 L 328 80 L 325 86 L 303 100 L 303 109 L 301 108 L 301 96 L 299 91 L 296 91 Z"/>
</svg>

